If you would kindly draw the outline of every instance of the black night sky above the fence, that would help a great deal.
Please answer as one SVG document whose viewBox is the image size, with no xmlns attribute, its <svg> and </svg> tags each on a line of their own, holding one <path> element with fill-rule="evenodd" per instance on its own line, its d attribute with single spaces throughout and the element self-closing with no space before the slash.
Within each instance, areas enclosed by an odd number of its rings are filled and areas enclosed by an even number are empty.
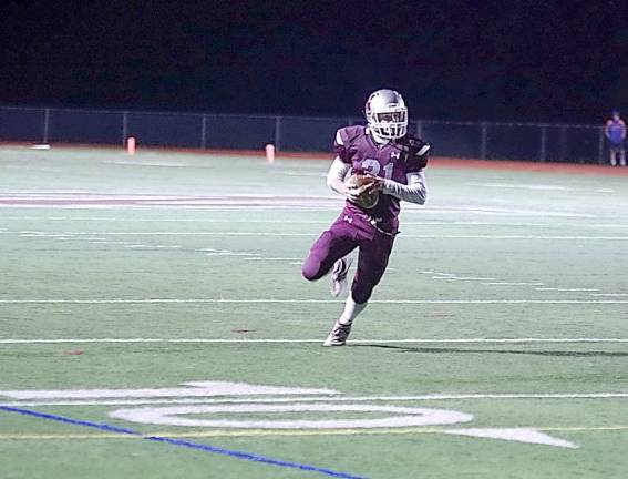
<svg viewBox="0 0 628 479">
<path fill-rule="evenodd" d="M 605 1 L 12 1 L 0 103 L 599 123 L 628 111 L 628 8 Z"/>
</svg>

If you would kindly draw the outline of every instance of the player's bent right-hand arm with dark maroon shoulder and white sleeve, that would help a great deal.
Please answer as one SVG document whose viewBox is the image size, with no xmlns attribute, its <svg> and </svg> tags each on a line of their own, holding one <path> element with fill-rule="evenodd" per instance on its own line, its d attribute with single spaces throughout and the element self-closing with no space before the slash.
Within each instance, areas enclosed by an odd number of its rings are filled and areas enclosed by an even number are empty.
<svg viewBox="0 0 628 479">
<path fill-rule="evenodd" d="M 421 140 L 410 140 L 406 157 L 406 184 L 393 180 L 383 180 L 380 190 L 410 203 L 424 204 L 428 198 L 428 186 L 423 169 L 428 165 L 430 145 Z"/>
</svg>

